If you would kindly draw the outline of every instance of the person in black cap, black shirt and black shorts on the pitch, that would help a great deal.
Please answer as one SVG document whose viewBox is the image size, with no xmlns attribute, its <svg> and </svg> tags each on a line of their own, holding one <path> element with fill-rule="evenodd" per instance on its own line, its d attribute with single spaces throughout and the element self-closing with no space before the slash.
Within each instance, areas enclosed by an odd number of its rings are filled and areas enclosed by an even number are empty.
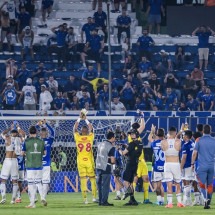
<svg viewBox="0 0 215 215">
<path fill-rule="evenodd" d="M 129 132 L 132 142 L 129 143 L 128 148 L 122 151 L 119 149 L 119 153 L 121 155 L 127 155 L 127 164 L 123 174 L 124 186 L 126 187 L 125 197 L 126 199 L 130 196 L 130 201 L 125 205 L 138 205 L 137 201 L 134 198 L 134 188 L 133 188 L 133 180 L 134 176 L 137 173 L 138 160 L 143 150 L 143 144 L 140 140 L 138 140 L 140 134 L 136 129 L 132 129 Z"/>
</svg>

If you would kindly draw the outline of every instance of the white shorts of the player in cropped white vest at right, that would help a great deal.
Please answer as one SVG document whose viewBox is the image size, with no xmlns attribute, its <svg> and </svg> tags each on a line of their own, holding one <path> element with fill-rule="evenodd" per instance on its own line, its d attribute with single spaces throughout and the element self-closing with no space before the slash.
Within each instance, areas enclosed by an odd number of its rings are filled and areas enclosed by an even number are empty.
<svg viewBox="0 0 215 215">
<path fill-rule="evenodd" d="M 181 182 L 180 163 L 166 162 L 164 164 L 164 180 L 166 182 L 174 181 Z"/>
</svg>

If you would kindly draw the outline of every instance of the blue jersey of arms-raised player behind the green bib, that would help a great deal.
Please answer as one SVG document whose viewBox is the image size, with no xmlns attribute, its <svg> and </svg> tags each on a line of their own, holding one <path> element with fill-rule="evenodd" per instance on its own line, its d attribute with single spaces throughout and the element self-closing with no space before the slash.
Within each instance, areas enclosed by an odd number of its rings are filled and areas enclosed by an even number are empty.
<svg viewBox="0 0 215 215">
<path fill-rule="evenodd" d="M 43 166 L 51 166 L 51 147 L 54 142 L 54 130 L 53 128 L 46 123 L 46 126 L 49 130 L 49 137 L 43 138 L 45 142 L 46 155 L 43 155 Z"/>
</svg>

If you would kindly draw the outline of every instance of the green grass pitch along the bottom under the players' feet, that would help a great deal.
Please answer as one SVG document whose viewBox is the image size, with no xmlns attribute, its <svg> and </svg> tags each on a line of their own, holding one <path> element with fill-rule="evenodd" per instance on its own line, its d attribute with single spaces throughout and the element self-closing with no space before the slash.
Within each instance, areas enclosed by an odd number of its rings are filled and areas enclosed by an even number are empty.
<svg viewBox="0 0 215 215">
<path fill-rule="evenodd" d="M 142 193 L 135 194 L 138 201 L 143 200 Z M 214 214 L 215 206 L 212 203 L 212 209 L 204 210 L 202 206 L 177 208 L 174 205 L 172 209 L 166 209 L 164 206 L 144 205 L 138 206 L 123 206 L 128 200 L 115 201 L 113 198 L 115 194 L 111 193 L 109 202 L 114 203 L 114 207 L 102 207 L 97 204 L 90 203 L 91 194 L 88 194 L 88 205 L 84 205 L 81 193 L 57 193 L 49 194 L 47 196 L 48 206 L 44 207 L 38 202 L 35 209 L 26 209 L 25 206 L 29 204 L 27 194 L 22 195 L 22 203 L 11 205 L 11 195 L 7 195 L 7 203 L 0 205 L 0 214 L 2 215 L 163 215 L 163 214 Z M 174 197 L 175 199 L 175 197 Z M 150 200 L 155 202 L 155 194 L 150 193 Z"/>
</svg>

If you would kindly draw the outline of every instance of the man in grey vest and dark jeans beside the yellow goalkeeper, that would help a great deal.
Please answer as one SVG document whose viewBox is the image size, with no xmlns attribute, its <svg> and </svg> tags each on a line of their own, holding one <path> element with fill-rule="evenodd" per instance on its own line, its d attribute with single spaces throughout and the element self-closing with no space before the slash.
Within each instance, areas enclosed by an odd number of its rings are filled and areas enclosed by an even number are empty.
<svg viewBox="0 0 215 215">
<path fill-rule="evenodd" d="M 98 145 L 96 158 L 97 185 L 99 191 L 99 205 L 113 206 L 108 202 L 109 187 L 111 180 L 111 166 L 115 163 L 115 134 L 109 131 L 107 140 Z"/>
</svg>

